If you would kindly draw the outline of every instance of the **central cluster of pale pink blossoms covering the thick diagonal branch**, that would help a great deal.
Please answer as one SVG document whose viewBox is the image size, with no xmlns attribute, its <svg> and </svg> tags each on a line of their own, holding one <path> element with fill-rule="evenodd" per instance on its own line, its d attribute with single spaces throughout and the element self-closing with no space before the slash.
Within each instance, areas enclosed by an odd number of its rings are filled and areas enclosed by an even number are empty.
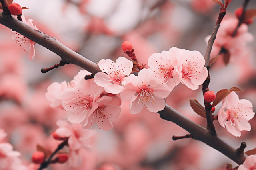
<svg viewBox="0 0 256 170">
<path fill-rule="evenodd" d="M 169 51 L 154 53 L 148 59 L 150 68 L 143 68 L 138 76 L 132 73 L 134 63 L 125 57 L 116 62 L 102 59 L 102 72 L 94 79 L 85 80 L 86 70 L 80 71 L 70 83 L 52 83 L 46 93 L 52 107 L 68 111 L 71 123 L 80 123 L 89 129 L 97 123 L 104 131 L 113 128 L 121 112 L 121 99 L 130 100 L 132 114 L 142 111 L 158 112 L 165 107 L 164 98 L 180 82 L 192 90 L 198 89 L 207 78 L 204 57 L 198 51 L 172 47 Z"/>
</svg>

